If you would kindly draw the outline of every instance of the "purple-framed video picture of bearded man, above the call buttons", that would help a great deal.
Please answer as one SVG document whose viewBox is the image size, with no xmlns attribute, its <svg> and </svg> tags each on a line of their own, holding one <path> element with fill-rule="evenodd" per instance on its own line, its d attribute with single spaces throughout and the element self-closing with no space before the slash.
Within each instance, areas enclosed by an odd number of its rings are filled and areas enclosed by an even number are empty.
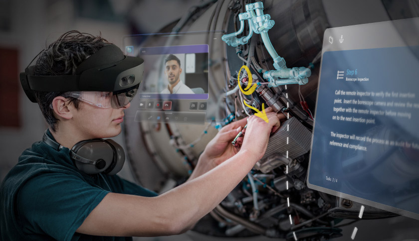
<svg viewBox="0 0 419 241">
<path fill-rule="evenodd" d="M 153 73 L 142 85 L 141 99 L 207 100 L 207 44 L 143 47 L 144 72 Z"/>
</svg>

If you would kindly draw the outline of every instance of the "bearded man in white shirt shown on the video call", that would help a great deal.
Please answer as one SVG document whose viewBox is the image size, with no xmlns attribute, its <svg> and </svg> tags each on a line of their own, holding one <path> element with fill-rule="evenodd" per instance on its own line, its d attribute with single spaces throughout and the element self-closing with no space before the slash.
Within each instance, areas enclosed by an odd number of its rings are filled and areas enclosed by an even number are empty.
<svg viewBox="0 0 419 241">
<path fill-rule="evenodd" d="M 181 61 L 173 54 L 165 59 L 165 75 L 169 84 L 160 94 L 194 94 L 179 78 L 182 74 Z"/>
</svg>

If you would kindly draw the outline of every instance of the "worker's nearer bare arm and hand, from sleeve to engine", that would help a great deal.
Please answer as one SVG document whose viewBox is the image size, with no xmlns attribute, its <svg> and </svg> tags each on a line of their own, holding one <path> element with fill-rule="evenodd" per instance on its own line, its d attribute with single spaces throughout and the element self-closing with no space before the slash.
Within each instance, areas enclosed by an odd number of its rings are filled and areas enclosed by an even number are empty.
<svg viewBox="0 0 419 241">
<path fill-rule="evenodd" d="M 269 123 L 250 117 L 241 150 L 205 174 L 158 197 L 109 193 L 76 232 L 96 236 L 179 234 L 216 207 L 252 169 L 266 150 L 276 114 Z M 259 142 L 256 145 L 253 142 Z"/>
</svg>

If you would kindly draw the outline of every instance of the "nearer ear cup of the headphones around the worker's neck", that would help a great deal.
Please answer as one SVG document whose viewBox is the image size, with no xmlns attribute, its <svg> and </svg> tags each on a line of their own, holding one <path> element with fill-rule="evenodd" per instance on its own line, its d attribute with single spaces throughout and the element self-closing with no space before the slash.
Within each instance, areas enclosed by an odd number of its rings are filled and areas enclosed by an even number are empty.
<svg viewBox="0 0 419 241">
<path fill-rule="evenodd" d="M 71 151 L 76 167 L 86 174 L 97 174 L 106 170 L 112 163 L 114 151 L 112 147 L 102 139 L 82 140 L 76 143 Z M 80 161 L 80 158 L 96 164 Z"/>
</svg>

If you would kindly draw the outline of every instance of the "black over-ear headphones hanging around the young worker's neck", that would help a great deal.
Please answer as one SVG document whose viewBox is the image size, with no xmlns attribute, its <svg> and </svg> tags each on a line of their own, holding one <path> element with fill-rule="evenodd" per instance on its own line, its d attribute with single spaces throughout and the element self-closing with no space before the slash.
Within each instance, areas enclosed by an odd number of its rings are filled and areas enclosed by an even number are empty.
<svg viewBox="0 0 419 241">
<path fill-rule="evenodd" d="M 45 130 L 42 141 L 59 151 L 63 148 L 48 136 Z M 70 157 L 76 167 L 86 174 L 104 173 L 115 175 L 125 162 L 125 152 L 121 145 L 112 139 L 90 139 L 77 142 L 70 150 Z"/>
</svg>

